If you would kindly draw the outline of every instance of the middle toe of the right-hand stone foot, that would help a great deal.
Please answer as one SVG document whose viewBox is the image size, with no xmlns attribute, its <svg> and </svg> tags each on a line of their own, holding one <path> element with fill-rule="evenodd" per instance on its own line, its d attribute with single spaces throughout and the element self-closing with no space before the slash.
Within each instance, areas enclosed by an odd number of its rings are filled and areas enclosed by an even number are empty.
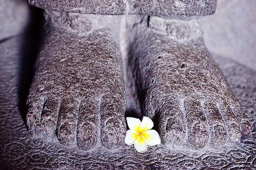
<svg viewBox="0 0 256 170">
<path fill-rule="evenodd" d="M 215 104 L 206 103 L 205 106 L 210 130 L 210 145 L 214 149 L 219 149 L 227 140 L 225 124 Z"/>
</svg>

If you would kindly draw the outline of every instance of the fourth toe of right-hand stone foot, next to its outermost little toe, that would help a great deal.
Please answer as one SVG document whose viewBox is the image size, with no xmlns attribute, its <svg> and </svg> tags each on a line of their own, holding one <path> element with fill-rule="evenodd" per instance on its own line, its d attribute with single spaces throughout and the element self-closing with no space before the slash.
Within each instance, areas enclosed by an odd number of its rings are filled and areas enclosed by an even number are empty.
<svg viewBox="0 0 256 170">
<path fill-rule="evenodd" d="M 228 128 L 227 135 L 228 135 L 229 141 L 232 143 L 240 142 L 242 134 L 238 124 L 238 119 L 233 114 L 233 112 L 231 111 L 231 109 L 229 108 L 226 102 L 221 103 L 219 105 L 219 110 Z"/>
</svg>

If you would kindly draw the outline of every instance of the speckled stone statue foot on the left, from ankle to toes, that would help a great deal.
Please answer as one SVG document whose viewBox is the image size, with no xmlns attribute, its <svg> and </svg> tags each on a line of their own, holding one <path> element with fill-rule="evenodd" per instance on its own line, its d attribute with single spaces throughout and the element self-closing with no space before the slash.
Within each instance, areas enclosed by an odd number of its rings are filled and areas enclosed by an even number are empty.
<svg viewBox="0 0 256 170">
<path fill-rule="evenodd" d="M 27 99 L 32 136 L 82 150 L 124 143 L 117 17 L 46 11 L 47 31 Z"/>
</svg>

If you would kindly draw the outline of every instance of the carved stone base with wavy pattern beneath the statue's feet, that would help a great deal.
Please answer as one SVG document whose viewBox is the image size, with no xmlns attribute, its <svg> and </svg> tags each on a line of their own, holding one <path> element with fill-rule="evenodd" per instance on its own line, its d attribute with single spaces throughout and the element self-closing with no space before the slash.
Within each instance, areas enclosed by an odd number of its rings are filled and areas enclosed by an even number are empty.
<svg viewBox="0 0 256 170">
<path fill-rule="evenodd" d="M 244 65 L 215 57 L 252 124 L 252 135 L 221 150 L 166 150 L 160 144 L 146 153 L 126 145 L 117 151 L 95 148 L 81 151 L 58 141 L 33 138 L 20 115 L 19 61 L 26 38 L 0 43 L 0 167 L 1 169 L 255 169 L 256 72 Z M 127 101 L 129 102 L 129 101 Z"/>
</svg>

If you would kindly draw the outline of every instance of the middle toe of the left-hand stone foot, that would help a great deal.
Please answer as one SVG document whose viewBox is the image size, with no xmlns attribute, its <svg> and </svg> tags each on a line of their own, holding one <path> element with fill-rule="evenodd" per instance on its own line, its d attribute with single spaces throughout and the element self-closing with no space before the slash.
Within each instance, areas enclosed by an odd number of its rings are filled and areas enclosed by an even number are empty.
<svg viewBox="0 0 256 170">
<path fill-rule="evenodd" d="M 63 99 L 59 109 L 57 137 L 61 144 L 75 145 L 78 104 L 73 99 Z"/>
</svg>

